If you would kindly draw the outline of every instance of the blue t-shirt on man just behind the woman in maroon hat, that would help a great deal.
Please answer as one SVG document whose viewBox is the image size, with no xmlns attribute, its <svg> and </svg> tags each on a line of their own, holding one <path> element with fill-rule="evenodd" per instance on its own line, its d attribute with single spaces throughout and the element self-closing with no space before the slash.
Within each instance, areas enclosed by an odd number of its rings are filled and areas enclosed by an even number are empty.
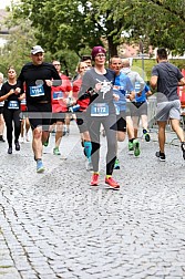
<svg viewBox="0 0 185 279">
<path fill-rule="evenodd" d="M 120 100 L 114 101 L 114 104 L 119 106 L 120 111 L 126 111 L 126 94 L 134 91 L 130 78 L 124 73 L 116 75 L 113 91 L 120 96 Z"/>
</svg>

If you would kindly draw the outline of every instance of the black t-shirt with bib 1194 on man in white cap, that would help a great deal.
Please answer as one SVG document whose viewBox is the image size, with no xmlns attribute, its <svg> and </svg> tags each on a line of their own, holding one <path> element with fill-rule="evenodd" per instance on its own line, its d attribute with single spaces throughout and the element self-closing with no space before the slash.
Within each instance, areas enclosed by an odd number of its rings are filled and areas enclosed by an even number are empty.
<svg viewBox="0 0 185 279">
<path fill-rule="evenodd" d="M 18 84 L 23 87 L 25 82 L 27 105 L 38 104 L 40 102 L 51 102 L 51 86 L 48 86 L 45 80 L 58 80 L 61 78 L 51 63 L 43 62 L 41 65 L 34 65 L 32 62 L 25 64 L 18 78 Z"/>
</svg>

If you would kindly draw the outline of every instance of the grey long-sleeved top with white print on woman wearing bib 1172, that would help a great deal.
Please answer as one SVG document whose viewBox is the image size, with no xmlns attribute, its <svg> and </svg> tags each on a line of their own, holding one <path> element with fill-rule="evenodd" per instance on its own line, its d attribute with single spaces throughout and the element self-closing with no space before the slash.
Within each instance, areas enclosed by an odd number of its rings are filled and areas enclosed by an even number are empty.
<svg viewBox="0 0 185 279">
<path fill-rule="evenodd" d="M 90 105 L 86 110 L 86 113 L 92 116 L 92 110 L 94 106 L 106 106 L 106 112 L 109 114 L 115 114 L 115 107 L 113 103 L 113 84 L 115 80 L 115 72 L 106 69 L 105 74 L 99 74 L 92 68 L 86 71 L 82 78 L 82 85 L 79 92 L 79 96 L 81 97 L 89 90 L 94 90 L 95 84 L 102 83 L 102 87 L 97 93 L 90 95 Z M 103 108 L 104 108 L 103 107 Z M 95 115 L 93 115 L 95 116 Z"/>
</svg>

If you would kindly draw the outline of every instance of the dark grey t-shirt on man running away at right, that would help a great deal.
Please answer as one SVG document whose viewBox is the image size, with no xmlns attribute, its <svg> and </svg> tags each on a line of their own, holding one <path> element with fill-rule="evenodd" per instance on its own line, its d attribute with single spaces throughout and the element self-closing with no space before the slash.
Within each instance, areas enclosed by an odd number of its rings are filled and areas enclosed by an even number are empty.
<svg viewBox="0 0 185 279">
<path fill-rule="evenodd" d="M 178 100 L 178 81 L 183 78 L 179 69 L 171 63 L 161 62 L 152 69 L 157 80 L 157 103 Z"/>
</svg>

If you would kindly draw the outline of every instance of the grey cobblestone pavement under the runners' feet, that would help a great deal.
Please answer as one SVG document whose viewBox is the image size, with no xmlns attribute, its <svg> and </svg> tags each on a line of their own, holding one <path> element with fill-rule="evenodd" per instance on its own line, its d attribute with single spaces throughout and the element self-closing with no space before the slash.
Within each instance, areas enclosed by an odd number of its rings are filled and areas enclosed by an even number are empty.
<svg viewBox="0 0 185 279">
<path fill-rule="evenodd" d="M 51 136 L 44 174 L 30 143 L 12 155 L 0 143 L 0 279 L 185 278 L 185 162 L 173 133 L 158 162 L 152 132 L 137 158 L 120 143 L 117 192 L 104 184 L 104 137 L 101 185 L 90 187 L 73 122 L 62 156 Z"/>
</svg>

